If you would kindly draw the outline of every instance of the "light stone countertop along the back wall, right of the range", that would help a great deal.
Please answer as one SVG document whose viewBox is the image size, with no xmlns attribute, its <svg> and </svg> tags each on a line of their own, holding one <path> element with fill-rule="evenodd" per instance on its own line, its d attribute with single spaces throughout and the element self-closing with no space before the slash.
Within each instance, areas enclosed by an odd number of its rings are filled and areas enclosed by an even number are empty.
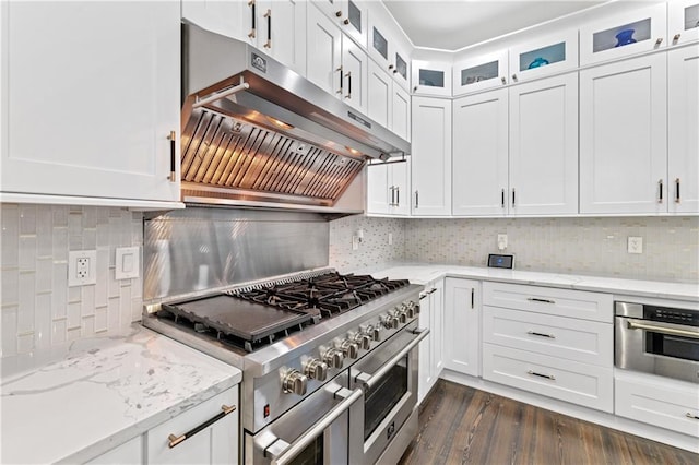
<svg viewBox="0 0 699 465">
<path fill-rule="evenodd" d="M 345 270 L 343 270 L 344 272 Z M 661 281 L 624 279 L 604 276 L 584 276 L 560 273 L 541 273 L 519 270 L 501 270 L 478 266 L 455 266 L 420 263 L 388 263 L 369 269 L 354 270 L 369 273 L 374 277 L 410 279 L 415 284 L 452 276 L 500 283 L 526 284 L 558 287 L 564 289 L 590 290 L 668 300 L 699 302 L 699 283 L 670 283 Z"/>
</svg>

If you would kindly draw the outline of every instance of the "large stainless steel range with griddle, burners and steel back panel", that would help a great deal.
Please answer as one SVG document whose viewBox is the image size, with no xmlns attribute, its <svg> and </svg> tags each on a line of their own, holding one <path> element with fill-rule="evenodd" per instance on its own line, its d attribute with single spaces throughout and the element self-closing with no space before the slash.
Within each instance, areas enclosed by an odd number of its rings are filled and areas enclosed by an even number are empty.
<svg viewBox="0 0 699 465">
<path fill-rule="evenodd" d="M 158 271 L 146 274 L 147 293 L 182 287 L 181 263 L 198 270 L 191 274 L 193 287 L 202 287 L 201 270 L 214 285 L 203 279 L 204 289 L 152 299 L 143 324 L 244 371 L 245 463 L 398 461 L 417 432 L 417 345 L 428 334 L 417 327 L 423 287 L 342 275 L 327 266 L 232 283 L 256 274 L 232 271 L 241 245 L 249 257 L 260 258 L 249 263 L 252 267 L 268 270 L 273 261 L 300 266 L 304 257 L 327 243 L 295 241 L 294 228 L 308 238 L 328 224 L 308 214 L 281 219 L 280 213 L 203 215 L 193 218 L 190 211 L 146 222 L 145 267 Z M 283 225 L 274 238 L 256 243 L 257 228 L 269 231 L 274 222 Z M 280 237 L 292 251 L 280 252 Z M 270 243 L 277 245 L 271 257 L 262 253 Z M 216 253 L 208 255 L 218 265 L 197 262 L 201 250 L 214 247 Z M 165 269 L 170 283 L 162 282 Z"/>
</svg>

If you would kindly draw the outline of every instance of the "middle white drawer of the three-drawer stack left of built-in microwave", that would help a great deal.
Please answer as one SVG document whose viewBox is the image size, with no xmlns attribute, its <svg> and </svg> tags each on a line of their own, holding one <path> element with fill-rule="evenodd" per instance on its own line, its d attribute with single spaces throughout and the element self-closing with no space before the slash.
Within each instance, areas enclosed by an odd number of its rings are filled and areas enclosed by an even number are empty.
<svg viewBox="0 0 699 465">
<path fill-rule="evenodd" d="M 583 363 L 614 365 L 614 325 L 609 323 L 484 307 L 483 339 Z"/>
</svg>

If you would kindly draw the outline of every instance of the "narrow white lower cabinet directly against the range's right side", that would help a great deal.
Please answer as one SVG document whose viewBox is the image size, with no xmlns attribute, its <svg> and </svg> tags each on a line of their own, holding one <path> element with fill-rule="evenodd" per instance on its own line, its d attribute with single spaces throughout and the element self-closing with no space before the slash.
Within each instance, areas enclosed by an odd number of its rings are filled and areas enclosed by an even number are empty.
<svg viewBox="0 0 699 465">
<path fill-rule="evenodd" d="M 419 301 L 419 327 L 428 327 L 429 335 L 419 345 L 418 404 L 433 389 L 445 366 L 443 290 L 445 281 L 439 279 L 425 286 L 420 295 L 424 297 Z"/>
</svg>

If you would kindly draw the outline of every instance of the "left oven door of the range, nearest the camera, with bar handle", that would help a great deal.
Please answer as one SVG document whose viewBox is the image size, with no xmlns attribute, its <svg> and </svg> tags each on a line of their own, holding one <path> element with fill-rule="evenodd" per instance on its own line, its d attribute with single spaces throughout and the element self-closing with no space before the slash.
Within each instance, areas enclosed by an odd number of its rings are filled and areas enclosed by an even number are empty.
<svg viewBox="0 0 699 465">
<path fill-rule="evenodd" d="M 346 374 L 337 378 L 258 433 L 246 431 L 245 463 L 348 464 L 350 412 L 360 404 L 364 393 L 342 385 L 346 385 Z"/>
</svg>

